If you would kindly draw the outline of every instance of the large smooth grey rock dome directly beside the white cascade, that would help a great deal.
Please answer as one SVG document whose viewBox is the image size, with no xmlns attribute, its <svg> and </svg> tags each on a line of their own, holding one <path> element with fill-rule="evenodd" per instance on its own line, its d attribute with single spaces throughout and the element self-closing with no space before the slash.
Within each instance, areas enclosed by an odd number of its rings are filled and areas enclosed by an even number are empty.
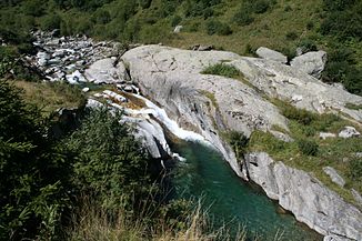
<svg viewBox="0 0 362 241">
<path fill-rule="evenodd" d="M 231 52 L 160 46 L 135 48 L 122 57 L 144 96 L 157 101 L 182 128 L 202 134 L 247 179 L 234 153 L 220 138 L 220 130 L 250 135 L 255 129 L 267 131 L 273 124 L 286 129 L 286 123 L 272 103 L 241 81 L 200 73 L 210 64 L 238 58 Z"/>
</svg>

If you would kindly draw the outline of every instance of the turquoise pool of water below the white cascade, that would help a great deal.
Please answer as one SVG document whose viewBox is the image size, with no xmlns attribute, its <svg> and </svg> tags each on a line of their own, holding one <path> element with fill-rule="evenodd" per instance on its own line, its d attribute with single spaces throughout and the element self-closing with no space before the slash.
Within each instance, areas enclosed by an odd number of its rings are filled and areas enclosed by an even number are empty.
<svg viewBox="0 0 362 241">
<path fill-rule="evenodd" d="M 175 169 L 177 194 L 202 198 L 215 225 L 227 223 L 237 230 L 241 223 L 250 238 L 257 234 L 259 240 L 273 240 L 276 233 L 285 241 L 322 240 L 293 215 L 282 214 L 262 190 L 238 178 L 215 150 L 194 142 L 174 143 L 172 150 L 187 158 Z"/>
</svg>

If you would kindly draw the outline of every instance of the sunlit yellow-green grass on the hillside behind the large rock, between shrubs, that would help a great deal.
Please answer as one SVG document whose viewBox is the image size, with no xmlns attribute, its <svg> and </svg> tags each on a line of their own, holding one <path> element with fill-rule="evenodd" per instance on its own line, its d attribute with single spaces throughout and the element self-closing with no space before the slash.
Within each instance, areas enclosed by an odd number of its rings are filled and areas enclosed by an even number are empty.
<svg viewBox="0 0 362 241">
<path fill-rule="evenodd" d="M 290 7 L 290 11 L 285 11 L 285 6 Z M 321 7 L 321 0 L 278 1 L 275 6 L 263 14 L 254 14 L 254 21 L 251 24 L 238 26 L 232 19 L 240 8 L 240 1 L 231 0 L 215 9 L 215 14 L 219 16 L 218 18 L 221 21 L 230 22 L 233 31 L 231 36 L 208 36 L 203 31 L 202 19 L 184 19 L 181 24 L 185 28 L 200 23 L 200 29 L 197 32 L 181 32 L 178 34 L 178 38 L 170 39 L 164 43 L 179 48 L 189 48 L 195 43 L 218 43 L 223 49 L 240 54 L 245 53 L 248 44 L 251 44 L 253 48 L 264 46 L 276 50 L 295 49 L 302 38 L 316 34 L 318 26 L 311 30 L 308 30 L 306 26 L 313 20 L 318 24 L 319 14 L 322 11 Z M 285 33 L 292 31 L 296 33 L 298 38 L 288 41 Z M 320 41 L 320 46 L 324 46 L 324 42 Z"/>
</svg>

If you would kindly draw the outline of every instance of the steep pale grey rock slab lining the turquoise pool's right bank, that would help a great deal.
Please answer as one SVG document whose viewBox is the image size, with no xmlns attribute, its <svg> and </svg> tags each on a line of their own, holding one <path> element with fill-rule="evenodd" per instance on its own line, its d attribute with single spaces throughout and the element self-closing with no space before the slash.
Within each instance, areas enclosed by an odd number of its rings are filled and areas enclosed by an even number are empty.
<svg viewBox="0 0 362 241">
<path fill-rule="evenodd" d="M 268 153 L 247 154 L 249 177 L 296 220 L 331 240 L 361 240 L 362 213 L 306 172 L 273 161 Z"/>
</svg>

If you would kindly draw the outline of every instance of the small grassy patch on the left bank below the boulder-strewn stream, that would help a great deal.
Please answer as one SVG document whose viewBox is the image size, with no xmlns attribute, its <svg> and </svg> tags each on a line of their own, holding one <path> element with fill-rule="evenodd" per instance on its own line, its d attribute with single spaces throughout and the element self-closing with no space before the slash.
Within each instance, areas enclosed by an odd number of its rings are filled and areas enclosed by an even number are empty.
<svg viewBox="0 0 362 241">
<path fill-rule="evenodd" d="M 86 104 L 86 97 L 76 86 L 63 82 L 28 82 L 14 81 L 16 87 L 24 91 L 27 102 L 41 109 L 43 116 L 49 116 L 59 108 L 78 108 Z"/>
</svg>

